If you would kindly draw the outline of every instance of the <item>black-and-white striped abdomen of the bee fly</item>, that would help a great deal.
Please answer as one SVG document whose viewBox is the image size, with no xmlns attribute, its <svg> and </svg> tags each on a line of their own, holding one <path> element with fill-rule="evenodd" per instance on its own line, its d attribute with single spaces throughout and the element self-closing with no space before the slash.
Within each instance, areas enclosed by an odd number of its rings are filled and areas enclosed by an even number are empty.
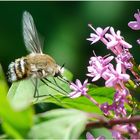
<svg viewBox="0 0 140 140">
<path fill-rule="evenodd" d="M 27 76 L 26 74 L 26 61 L 25 58 L 16 59 L 8 67 L 9 81 L 17 81 Z"/>
</svg>

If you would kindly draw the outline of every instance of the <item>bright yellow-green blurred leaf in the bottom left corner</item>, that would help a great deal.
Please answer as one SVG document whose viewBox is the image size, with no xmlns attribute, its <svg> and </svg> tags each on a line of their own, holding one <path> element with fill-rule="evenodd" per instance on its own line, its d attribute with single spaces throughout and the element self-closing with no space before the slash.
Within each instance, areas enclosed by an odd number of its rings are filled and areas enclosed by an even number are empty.
<svg viewBox="0 0 140 140">
<path fill-rule="evenodd" d="M 24 138 L 32 126 L 32 117 L 31 107 L 20 112 L 16 111 L 9 104 L 6 96 L 0 94 L 0 118 L 2 118 L 3 129 L 10 138 Z"/>
</svg>

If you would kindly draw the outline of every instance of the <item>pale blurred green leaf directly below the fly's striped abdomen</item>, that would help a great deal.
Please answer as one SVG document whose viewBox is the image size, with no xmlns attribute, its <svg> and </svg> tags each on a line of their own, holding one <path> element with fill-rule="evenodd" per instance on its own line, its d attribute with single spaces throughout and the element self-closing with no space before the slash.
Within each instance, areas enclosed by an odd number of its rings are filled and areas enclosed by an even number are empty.
<svg viewBox="0 0 140 140">
<path fill-rule="evenodd" d="M 16 110 L 27 108 L 33 101 L 35 87 L 30 79 L 14 82 L 8 92 L 8 100 Z"/>
</svg>

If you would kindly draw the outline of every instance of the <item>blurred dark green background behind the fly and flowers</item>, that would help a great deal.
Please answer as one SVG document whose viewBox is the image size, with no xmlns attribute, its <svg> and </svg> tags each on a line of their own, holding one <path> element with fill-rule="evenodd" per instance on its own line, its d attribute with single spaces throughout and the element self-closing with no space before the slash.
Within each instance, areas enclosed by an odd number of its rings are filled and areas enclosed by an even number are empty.
<svg viewBox="0 0 140 140">
<path fill-rule="evenodd" d="M 60 65 L 65 63 L 74 78 L 85 79 L 93 49 L 97 55 L 110 53 L 102 43 L 90 46 L 86 41 L 92 32 L 88 23 L 95 28 L 113 26 L 121 30 L 140 63 L 140 46 L 136 43 L 140 32 L 127 26 L 139 8 L 140 2 L 0 2 L 0 63 L 6 73 L 11 61 L 27 55 L 22 37 L 25 10 L 32 14 L 37 30 L 45 38 L 44 53 L 53 56 Z"/>
</svg>

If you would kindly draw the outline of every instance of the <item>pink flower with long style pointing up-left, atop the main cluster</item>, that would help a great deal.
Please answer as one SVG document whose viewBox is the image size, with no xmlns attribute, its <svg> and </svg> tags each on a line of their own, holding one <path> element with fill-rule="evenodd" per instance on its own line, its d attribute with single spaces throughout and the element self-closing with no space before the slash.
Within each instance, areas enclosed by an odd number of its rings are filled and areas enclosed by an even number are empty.
<svg viewBox="0 0 140 140">
<path fill-rule="evenodd" d="M 98 27 L 97 29 L 94 29 L 92 27 L 91 24 L 88 25 L 91 29 L 93 29 L 93 31 L 96 33 L 91 33 L 90 34 L 90 38 L 87 38 L 87 40 L 91 41 L 92 43 L 91 44 L 94 44 L 96 43 L 97 41 L 99 40 L 102 40 L 103 42 L 105 41 L 103 36 L 105 35 L 105 33 L 108 31 L 109 27 L 106 27 L 105 29 L 102 29 L 100 27 Z M 106 41 L 105 41 L 106 42 Z"/>
</svg>

